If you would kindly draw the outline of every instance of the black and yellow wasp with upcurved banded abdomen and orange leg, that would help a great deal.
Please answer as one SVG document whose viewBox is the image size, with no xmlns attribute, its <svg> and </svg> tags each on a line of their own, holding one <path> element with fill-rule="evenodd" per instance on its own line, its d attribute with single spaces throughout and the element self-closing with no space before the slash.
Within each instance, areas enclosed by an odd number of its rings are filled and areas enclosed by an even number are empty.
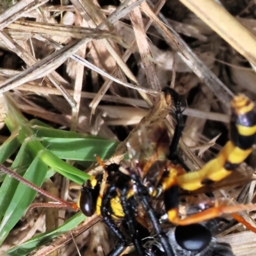
<svg viewBox="0 0 256 256">
<path fill-rule="evenodd" d="M 179 216 L 179 191 L 180 189 L 195 191 L 205 184 L 222 180 L 234 172 L 237 166 L 250 155 L 256 136 L 256 115 L 252 100 L 244 95 L 234 97 L 231 102 L 230 141 L 221 150 L 219 156 L 205 164 L 204 168 L 187 173 L 180 164 L 177 164 L 179 161 L 175 157 L 175 150 L 184 126 L 182 124 L 180 97 L 170 88 L 165 88 L 163 91 L 166 93 L 166 97 L 171 95 L 175 102 L 178 123 L 173 141 L 169 147 L 169 153 L 166 154 L 165 159 L 157 161 L 156 164 L 158 157 L 156 150 L 154 156 L 147 159 L 146 163 L 143 164 L 140 161 L 136 166 L 123 166 L 122 163 L 109 164 L 104 166 L 105 172 L 103 174 L 92 177 L 82 187 L 79 199 L 81 211 L 86 216 L 92 216 L 95 213 L 101 214 L 104 222 L 118 239 L 118 244 L 108 255 L 120 255 L 127 246 L 127 240 L 116 226 L 115 218 L 123 218 L 127 221 L 132 243 L 138 255 L 147 255 L 147 250 L 140 239 L 140 232 L 138 232 L 140 226 L 140 223 L 138 223 L 139 207 L 143 209 L 142 211 L 150 220 L 161 248 L 163 248 L 164 255 L 168 256 L 179 254 L 173 252 L 173 244 L 170 242 L 172 239 L 161 228 L 162 220 L 166 219 L 172 225 L 177 225 L 175 230 L 179 231 L 180 228 L 183 228 L 182 232 L 186 232 L 186 228 L 189 230 L 191 225 L 199 227 L 200 224 L 198 223 L 202 223 L 202 221 L 216 218 L 223 213 L 236 212 L 246 208 L 246 205 L 214 205 L 205 211 L 197 212 L 182 219 Z M 159 131 L 163 130 L 159 129 Z M 164 140 L 166 134 L 163 132 L 160 137 L 162 137 L 161 140 Z M 153 178 L 152 172 L 154 173 Z M 152 200 L 161 196 L 165 207 L 163 216 L 159 216 L 152 206 Z M 204 228 L 200 230 L 204 234 Z M 207 236 L 203 235 L 201 237 L 201 240 L 199 239 L 201 244 L 209 242 L 204 240 Z M 208 237 L 212 238 L 212 236 Z M 189 241 L 190 237 L 184 237 L 182 243 L 186 244 L 186 239 Z M 183 249 L 192 251 L 189 247 Z M 198 245 L 197 251 L 201 249 Z"/>
</svg>

